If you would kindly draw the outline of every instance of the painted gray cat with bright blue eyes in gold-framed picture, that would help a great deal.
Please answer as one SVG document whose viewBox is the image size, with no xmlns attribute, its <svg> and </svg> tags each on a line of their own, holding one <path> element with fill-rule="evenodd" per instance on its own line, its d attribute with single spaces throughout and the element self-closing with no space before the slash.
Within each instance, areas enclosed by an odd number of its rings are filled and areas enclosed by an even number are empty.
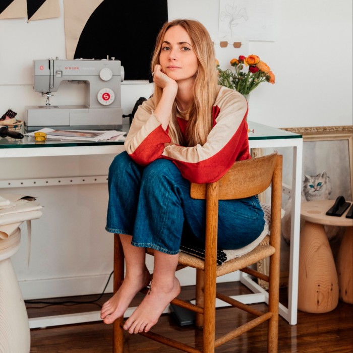
<svg viewBox="0 0 353 353">
<path fill-rule="evenodd" d="M 330 177 L 327 175 L 326 171 L 316 175 L 305 174 L 305 179 L 303 181 L 302 190 L 302 202 L 315 201 L 315 200 L 329 200 L 332 192 L 332 186 L 330 182 Z M 282 218 L 282 236 L 287 244 L 290 243 L 290 219 L 291 219 L 291 198 L 287 200 L 283 206 L 285 215 Z M 301 222 L 301 230 L 303 228 L 304 222 Z M 325 226 L 327 238 L 331 239 L 335 237 L 339 232 L 339 227 L 335 226 Z"/>
</svg>

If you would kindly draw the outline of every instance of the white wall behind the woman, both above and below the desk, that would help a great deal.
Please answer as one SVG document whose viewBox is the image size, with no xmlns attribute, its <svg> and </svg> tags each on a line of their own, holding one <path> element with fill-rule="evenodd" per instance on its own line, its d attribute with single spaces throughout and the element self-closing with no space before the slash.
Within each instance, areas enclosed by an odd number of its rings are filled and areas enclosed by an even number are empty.
<svg viewBox="0 0 353 353">
<path fill-rule="evenodd" d="M 351 125 L 351 0 L 274 1 L 276 40 L 249 42 L 244 55 L 259 55 L 276 75 L 276 84 L 264 83 L 251 94 L 249 119 L 273 127 Z M 60 4 L 63 10 L 62 0 Z M 169 19 L 198 19 L 217 36 L 217 0 L 168 0 L 168 12 Z M 217 55 L 225 62 L 232 58 L 229 51 L 217 51 Z M 21 118 L 25 105 L 44 104 L 32 89 L 32 59 L 55 56 L 65 57 L 63 16 L 30 23 L 0 20 L 0 114 L 12 108 Z M 150 84 L 123 83 L 124 114 L 151 91 Z M 68 84 L 55 92 L 51 102 L 82 104 L 83 94 Z M 6 159 L 0 178 L 105 175 L 112 158 Z M 12 258 L 24 297 L 100 292 L 112 270 L 112 236 L 104 230 L 106 184 L 2 191 L 37 196 L 44 206 L 42 218 L 32 222 L 29 267 L 25 227 L 21 249 Z M 183 284 L 193 281 L 188 275 L 182 277 Z"/>
</svg>

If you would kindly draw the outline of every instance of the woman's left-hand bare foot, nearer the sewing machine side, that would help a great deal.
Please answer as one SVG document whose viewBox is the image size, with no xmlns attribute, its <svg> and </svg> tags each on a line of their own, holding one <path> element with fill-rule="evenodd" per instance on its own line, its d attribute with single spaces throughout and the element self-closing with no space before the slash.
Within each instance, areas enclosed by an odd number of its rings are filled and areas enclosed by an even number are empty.
<svg viewBox="0 0 353 353">
<path fill-rule="evenodd" d="M 140 276 L 126 277 L 119 290 L 106 301 L 100 311 L 100 318 L 105 324 L 111 324 L 115 319 L 124 315 L 131 301 L 142 288 L 146 287 L 151 280 L 151 275 L 147 268 Z"/>
</svg>

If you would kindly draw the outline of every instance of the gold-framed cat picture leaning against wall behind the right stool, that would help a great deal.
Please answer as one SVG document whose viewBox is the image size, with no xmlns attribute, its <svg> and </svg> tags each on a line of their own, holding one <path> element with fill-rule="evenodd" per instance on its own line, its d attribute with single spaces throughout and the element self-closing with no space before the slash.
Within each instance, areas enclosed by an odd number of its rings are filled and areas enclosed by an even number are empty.
<svg viewBox="0 0 353 353">
<path fill-rule="evenodd" d="M 302 202 L 311 198 L 335 200 L 344 196 L 347 201 L 353 200 L 353 126 L 285 128 L 283 130 L 303 136 L 303 168 L 302 168 Z M 283 154 L 283 183 L 290 185 L 286 174 L 292 161 L 290 153 L 278 150 Z M 266 154 L 266 151 L 262 152 Z M 288 172 L 291 175 L 291 171 Z M 321 177 L 321 178 L 320 178 Z M 319 180 L 320 179 L 320 180 Z M 306 184 L 309 187 L 304 188 Z M 320 183 L 319 188 L 317 185 Z M 281 242 L 281 274 L 280 282 L 286 286 L 289 273 L 289 241 L 290 241 L 290 198 L 283 196 Z M 328 230 L 333 253 L 339 246 L 339 229 Z M 258 263 L 258 268 L 268 273 L 268 263 Z M 260 283 L 266 287 L 266 282 Z"/>
</svg>

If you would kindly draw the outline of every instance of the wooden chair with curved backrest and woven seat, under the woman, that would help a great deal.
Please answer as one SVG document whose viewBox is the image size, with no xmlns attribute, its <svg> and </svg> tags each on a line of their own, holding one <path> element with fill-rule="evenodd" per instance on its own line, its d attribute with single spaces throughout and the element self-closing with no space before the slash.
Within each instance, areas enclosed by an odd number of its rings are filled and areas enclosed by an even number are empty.
<svg viewBox="0 0 353 353">
<path fill-rule="evenodd" d="M 218 200 L 240 199 L 257 195 L 271 187 L 271 222 L 270 236 L 266 236 L 255 249 L 249 253 L 216 265 L 217 257 L 217 222 Z M 278 339 L 278 304 L 279 304 L 279 255 L 280 255 L 280 224 L 282 194 L 282 156 L 276 152 L 270 155 L 234 163 L 230 170 L 218 181 L 211 184 L 192 184 L 191 197 L 206 199 L 206 246 L 205 260 L 180 252 L 179 266 L 196 268 L 196 304 L 178 298 L 171 303 L 196 312 L 196 326 L 203 327 L 203 348 L 197 349 L 179 341 L 171 340 L 152 331 L 142 332 L 143 336 L 163 344 L 192 353 L 213 353 L 215 347 L 238 337 L 244 332 L 268 320 L 268 351 L 277 352 Z M 147 251 L 153 254 L 151 251 Z M 270 257 L 270 273 L 264 275 L 249 268 L 252 264 Z M 179 269 L 179 268 L 178 268 Z M 216 292 L 216 278 L 234 272 L 244 271 L 257 278 L 269 282 L 268 311 L 255 310 L 232 298 Z M 119 235 L 114 238 L 114 291 L 124 279 L 124 254 Z M 216 298 L 254 314 L 255 318 L 229 333 L 215 339 Z M 113 352 L 123 353 L 123 318 L 113 324 Z M 153 328 L 152 328 L 153 330 Z M 234 343 L 235 345 L 236 343 Z M 236 351 L 234 346 L 234 351 Z"/>
</svg>

